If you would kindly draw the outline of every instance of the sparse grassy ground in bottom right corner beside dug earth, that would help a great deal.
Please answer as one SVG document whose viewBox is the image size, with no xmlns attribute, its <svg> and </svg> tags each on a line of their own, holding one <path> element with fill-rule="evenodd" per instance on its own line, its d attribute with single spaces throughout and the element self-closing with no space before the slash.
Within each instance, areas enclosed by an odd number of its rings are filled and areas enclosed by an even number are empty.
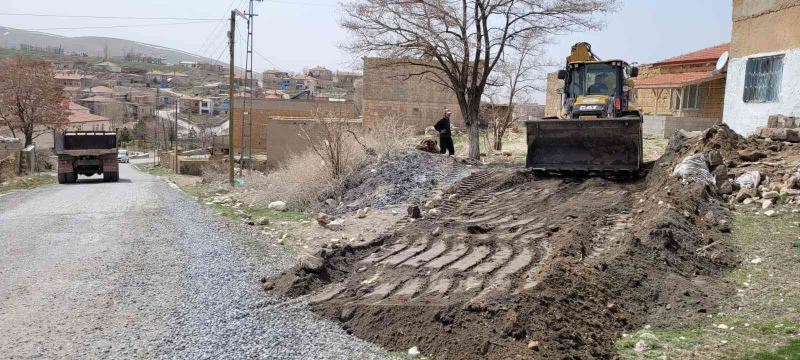
<svg viewBox="0 0 800 360">
<path fill-rule="evenodd" d="M 797 221 L 797 214 L 737 213 L 731 241 L 742 262 L 725 277 L 734 293 L 720 304 L 719 312 L 684 329 L 643 329 L 625 336 L 615 343 L 619 356 L 800 359 Z"/>
</svg>

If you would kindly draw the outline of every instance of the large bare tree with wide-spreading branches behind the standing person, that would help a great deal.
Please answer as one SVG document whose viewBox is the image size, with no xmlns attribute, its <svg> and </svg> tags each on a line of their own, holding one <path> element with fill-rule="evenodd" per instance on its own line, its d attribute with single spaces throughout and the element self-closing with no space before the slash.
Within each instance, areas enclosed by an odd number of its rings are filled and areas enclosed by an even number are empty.
<svg viewBox="0 0 800 360">
<path fill-rule="evenodd" d="M 480 156 L 479 112 L 492 71 L 518 38 L 599 28 L 616 0 L 352 0 L 343 4 L 344 47 L 414 65 L 453 91 Z"/>
</svg>

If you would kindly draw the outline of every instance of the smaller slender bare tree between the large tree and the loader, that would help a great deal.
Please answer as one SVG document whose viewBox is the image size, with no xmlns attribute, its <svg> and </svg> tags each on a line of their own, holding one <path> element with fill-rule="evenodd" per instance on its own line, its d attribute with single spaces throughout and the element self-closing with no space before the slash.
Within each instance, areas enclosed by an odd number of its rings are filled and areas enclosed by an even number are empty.
<svg viewBox="0 0 800 360">
<path fill-rule="evenodd" d="M 544 59 L 543 38 L 519 38 L 514 52 L 509 52 L 497 65 L 493 82 L 497 86 L 485 92 L 488 100 L 486 120 L 492 150 L 503 150 L 503 137 L 519 120 L 515 107 L 528 100 L 531 92 L 542 91 L 537 83 L 543 80 L 541 70 L 549 64 Z"/>
</svg>

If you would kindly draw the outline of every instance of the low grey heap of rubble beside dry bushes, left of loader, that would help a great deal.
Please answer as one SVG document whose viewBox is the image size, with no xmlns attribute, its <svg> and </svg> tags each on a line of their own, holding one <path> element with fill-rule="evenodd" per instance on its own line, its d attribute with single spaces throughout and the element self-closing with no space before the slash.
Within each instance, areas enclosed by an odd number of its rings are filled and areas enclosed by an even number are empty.
<svg viewBox="0 0 800 360">
<path fill-rule="evenodd" d="M 345 181 L 339 213 L 364 207 L 385 208 L 419 203 L 437 188 L 469 175 L 469 169 L 452 157 L 419 150 L 398 150 L 381 160 L 371 160 Z"/>
</svg>

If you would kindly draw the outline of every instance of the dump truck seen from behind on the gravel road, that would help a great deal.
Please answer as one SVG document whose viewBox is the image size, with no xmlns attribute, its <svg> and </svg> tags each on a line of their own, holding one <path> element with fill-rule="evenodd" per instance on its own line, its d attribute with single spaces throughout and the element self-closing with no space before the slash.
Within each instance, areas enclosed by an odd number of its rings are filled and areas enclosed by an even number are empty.
<svg viewBox="0 0 800 360">
<path fill-rule="evenodd" d="M 117 134 L 109 131 L 64 131 L 55 137 L 58 183 L 78 180 L 78 175 L 103 175 L 103 181 L 119 180 Z"/>
</svg>

